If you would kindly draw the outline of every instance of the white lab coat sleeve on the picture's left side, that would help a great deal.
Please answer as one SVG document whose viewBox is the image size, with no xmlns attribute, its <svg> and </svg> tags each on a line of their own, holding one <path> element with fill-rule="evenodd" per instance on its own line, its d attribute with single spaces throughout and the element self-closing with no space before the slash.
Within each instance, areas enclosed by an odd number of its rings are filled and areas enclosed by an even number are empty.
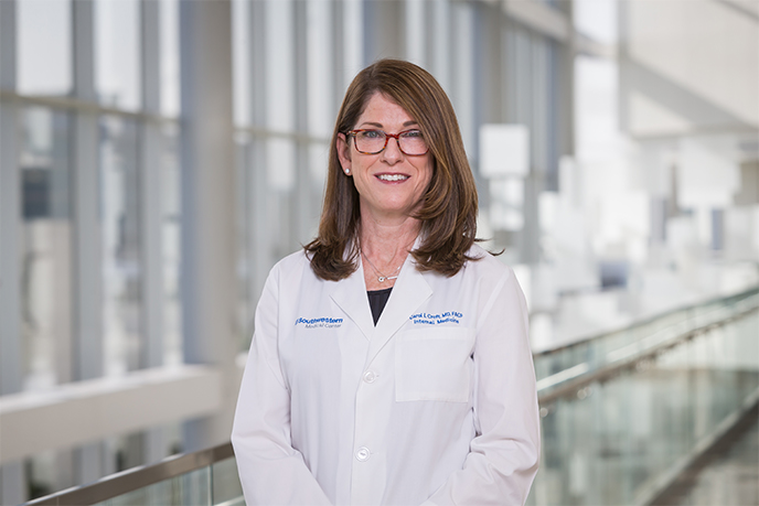
<svg viewBox="0 0 759 506">
<path fill-rule="evenodd" d="M 302 454 L 291 444 L 290 394 L 277 346 L 278 295 L 275 268 L 256 310 L 232 430 L 245 502 L 248 506 L 329 505 Z"/>
</svg>

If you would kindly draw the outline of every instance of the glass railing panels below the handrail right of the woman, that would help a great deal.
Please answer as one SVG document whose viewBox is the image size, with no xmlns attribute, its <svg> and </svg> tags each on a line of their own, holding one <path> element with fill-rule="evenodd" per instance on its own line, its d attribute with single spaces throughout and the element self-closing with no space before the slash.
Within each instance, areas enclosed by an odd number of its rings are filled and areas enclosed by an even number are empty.
<svg viewBox="0 0 759 506">
<path fill-rule="evenodd" d="M 543 454 L 530 505 L 652 504 L 757 403 L 756 306 L 715 304 L 674 326 L 687 333 L 675 345 L 564 396 L 538 396 Z"/>
</svg>

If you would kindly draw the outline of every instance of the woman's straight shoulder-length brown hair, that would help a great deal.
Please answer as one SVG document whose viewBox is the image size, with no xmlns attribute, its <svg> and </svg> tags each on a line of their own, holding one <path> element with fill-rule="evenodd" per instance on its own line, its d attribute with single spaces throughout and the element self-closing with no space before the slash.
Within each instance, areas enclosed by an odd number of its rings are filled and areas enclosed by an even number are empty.
<svg viewBox="0 0 759 506">
<path fill-rule="evenodd" d="M 421 240 L 411 251 L 421 271 L 456 274 L 470 258 L 477 235 L 477 186 L 453 106 L 427 71 L 409 62 L 380 60 L 355 76 L 338 114 L 319 235 L 303 248 L 314 273 L 325 280 L 348 278 L 359 268 L 361 212 L 353 177 L 338 158 L 338 136 L 355 128 L 375 93 L 403 107 L 419 125 L 432 157 L 432 176 L 414 216 Z"/>
</svg>

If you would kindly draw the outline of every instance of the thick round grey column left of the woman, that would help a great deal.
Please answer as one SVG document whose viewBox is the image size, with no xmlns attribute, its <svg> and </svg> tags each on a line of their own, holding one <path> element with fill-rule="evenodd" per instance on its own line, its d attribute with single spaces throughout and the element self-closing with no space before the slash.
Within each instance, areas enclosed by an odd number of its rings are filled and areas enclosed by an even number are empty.
<svg viewBox="0 0 759 506">
<path fill-rule="evenodd" d="M 184 360 L 226 373 L 222 411 L 185 423 L 185 450 L 228 440 L 236 397 L 232 6 L 180 3 Z"/>
</svg>

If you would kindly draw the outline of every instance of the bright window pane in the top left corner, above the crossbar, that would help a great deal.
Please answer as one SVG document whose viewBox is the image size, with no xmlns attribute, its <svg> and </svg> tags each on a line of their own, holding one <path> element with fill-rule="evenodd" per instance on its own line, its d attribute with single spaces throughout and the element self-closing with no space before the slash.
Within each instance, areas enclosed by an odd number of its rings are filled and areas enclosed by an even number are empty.
<svg viewBox="0 0 759 506">
<path fill-rule="evenodd" d="M 68 95 L 72 90 L 71 0 L 15 2 L 19 93 Z"/>
</svg>

